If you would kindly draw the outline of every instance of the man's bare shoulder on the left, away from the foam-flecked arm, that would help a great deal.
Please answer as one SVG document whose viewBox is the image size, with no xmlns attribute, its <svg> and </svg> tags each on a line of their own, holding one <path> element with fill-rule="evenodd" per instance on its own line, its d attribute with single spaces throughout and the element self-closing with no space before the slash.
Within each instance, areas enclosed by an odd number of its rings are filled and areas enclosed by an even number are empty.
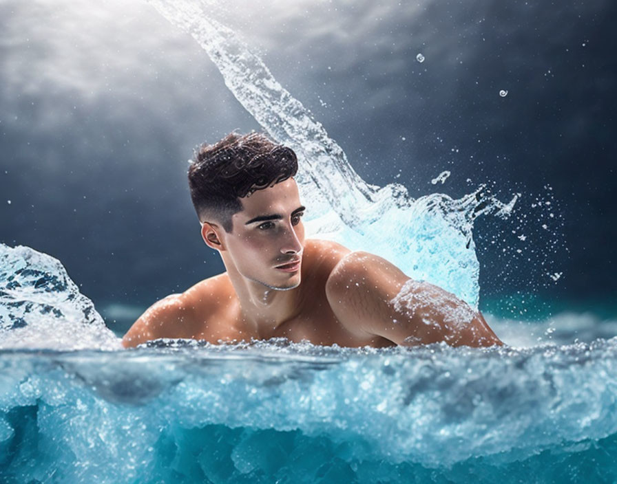
<svg viewBox="0 0 617 484">
<path fill-rule="evenodd" d="M 209 316 L 229 305 L 231 282 L 227 274 L 200 281 L 182 294 L 158 300 L 142 314 L 125 334 L 124 347 L 136 347 L 158 338 L 196 338 Z M 233 291 L 233 288 L 231 288 Z"/>
</svg>

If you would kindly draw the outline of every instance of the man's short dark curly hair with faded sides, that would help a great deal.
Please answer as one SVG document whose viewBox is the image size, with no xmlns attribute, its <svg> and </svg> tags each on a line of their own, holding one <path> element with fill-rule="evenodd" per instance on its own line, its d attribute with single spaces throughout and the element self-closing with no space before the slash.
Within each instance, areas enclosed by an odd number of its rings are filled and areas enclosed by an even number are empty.
<svg viewBox="0 0 617 484">
<path fill-rule="evenodd" d="M 231 232 L 231 216 L 249 197 L 293 177 L 297 157 L 262 133 L 229 133 L 216 144 L 202 144 L 189 167 L 191 199 L 202 222 L 217 221 Z"/>
</svg>

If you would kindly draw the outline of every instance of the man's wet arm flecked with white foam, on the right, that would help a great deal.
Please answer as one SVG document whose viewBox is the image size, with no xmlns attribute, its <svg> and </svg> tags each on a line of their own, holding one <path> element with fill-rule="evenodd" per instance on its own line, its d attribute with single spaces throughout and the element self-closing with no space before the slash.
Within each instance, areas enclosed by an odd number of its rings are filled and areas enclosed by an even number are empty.
<svg viewBox="0 0 617 484">
<path fill-rule="evenodd" d="M 348 254 L 337 264 L 326 295 L 342 325 L 358 335 L 404 345 L 501 344 L 482 316 L 454 294 L 412 281 L 395 265 L 366 252 Z"/>
</svg>

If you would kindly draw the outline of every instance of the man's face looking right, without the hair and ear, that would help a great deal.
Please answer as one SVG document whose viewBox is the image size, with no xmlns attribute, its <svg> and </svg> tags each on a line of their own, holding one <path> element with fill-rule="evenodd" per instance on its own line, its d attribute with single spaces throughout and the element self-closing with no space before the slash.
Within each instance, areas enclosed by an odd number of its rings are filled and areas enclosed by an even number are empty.
<svg viewBox="0 0 617 484">
<path fill-rule="evenodd" d="M 304 226 L 292 178 L 240 199 L 233 230 L 224 234 L 227 256 L 240 274 L 271 289 L 300 285 Z"/>
</svg>

